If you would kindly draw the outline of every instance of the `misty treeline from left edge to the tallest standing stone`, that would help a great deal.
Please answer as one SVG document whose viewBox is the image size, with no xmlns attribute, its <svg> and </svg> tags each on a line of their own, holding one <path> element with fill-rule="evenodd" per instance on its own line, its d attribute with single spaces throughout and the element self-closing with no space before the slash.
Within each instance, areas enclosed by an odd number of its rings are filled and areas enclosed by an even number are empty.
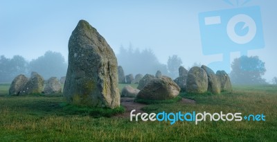
<svg viewBox="0 0 277 142">
<path fill-rule="evenodd" d="M 30 76 L 30 72 L 36 71 L 44 79 L 50 77 L 60 78 L 66 76 L 67 64 L 61 53 L 47 51 L 44 55 L 28 62 L 21 55 L 7 58 L 0 57 L 0 82 L 11 82 L 15 76 L 24 74 Z"/>
</svg>

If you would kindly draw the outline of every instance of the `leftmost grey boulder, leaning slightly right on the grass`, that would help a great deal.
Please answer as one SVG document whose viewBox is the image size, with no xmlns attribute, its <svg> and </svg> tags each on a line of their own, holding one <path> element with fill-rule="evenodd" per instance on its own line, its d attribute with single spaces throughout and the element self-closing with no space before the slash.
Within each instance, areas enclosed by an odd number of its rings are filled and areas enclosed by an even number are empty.
<svg viewBox="0 0 277 142">
<path fill-rule="evenodd" d="M 26 76 L 20 74 L 12 80 L 12 84 L 10 85 L 9 94 L 10 95 L 19 95 L 20 91 L 24 89 L 25 85 L 28 82 L 28 78 Z"/>
</svg>

